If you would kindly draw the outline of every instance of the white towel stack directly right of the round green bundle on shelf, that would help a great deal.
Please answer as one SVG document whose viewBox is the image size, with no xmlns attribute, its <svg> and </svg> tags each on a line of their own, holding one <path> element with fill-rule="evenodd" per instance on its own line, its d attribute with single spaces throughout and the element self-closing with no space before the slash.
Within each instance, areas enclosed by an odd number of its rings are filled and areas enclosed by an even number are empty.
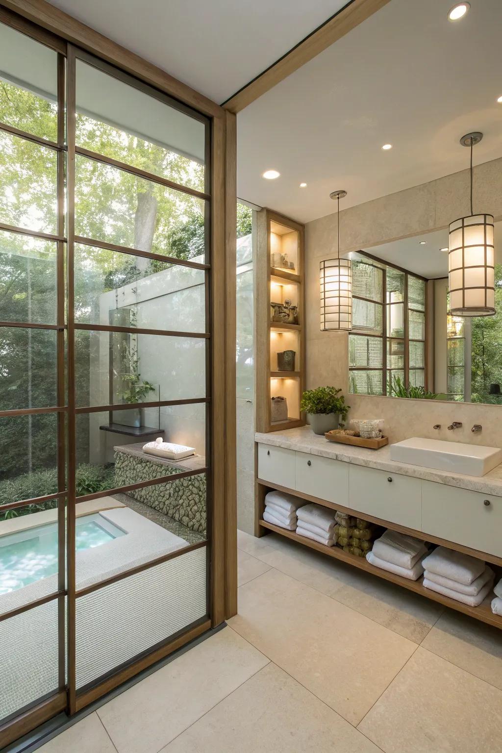
<svg viewBox="0 0 502 753">
<path fill-rule="evenodd" d="M 388 529 L 373 542 L 373 550 L 367 553 L 366 559 L 370 565 L 417 581 L 424 572 L 422 559 L 426 554 L 423 541 Z"/>
</svg>

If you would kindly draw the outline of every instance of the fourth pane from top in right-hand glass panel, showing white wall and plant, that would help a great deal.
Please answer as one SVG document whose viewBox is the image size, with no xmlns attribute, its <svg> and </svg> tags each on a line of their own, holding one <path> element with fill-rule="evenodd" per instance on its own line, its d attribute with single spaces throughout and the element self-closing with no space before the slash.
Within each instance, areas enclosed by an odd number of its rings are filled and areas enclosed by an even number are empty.
<svg viewBox="0 0 502 753">
<path fill-rule="evenodd" d="M 205 398 L 205 350 L 202 337 L 76 331 L 77 405 Z"/>
</svg>

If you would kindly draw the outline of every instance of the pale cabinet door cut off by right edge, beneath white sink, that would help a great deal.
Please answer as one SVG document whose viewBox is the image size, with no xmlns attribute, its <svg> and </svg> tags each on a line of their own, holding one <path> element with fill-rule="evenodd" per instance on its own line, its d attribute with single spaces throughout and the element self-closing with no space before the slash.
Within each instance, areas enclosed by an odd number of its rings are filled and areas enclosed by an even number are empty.
<svg viewBox="0 0 502 753">
<path fill-rule="evenodd" d="M 434 481 L 422 481 L 422 497 L 424 533 L 502 556 L 502 497 Z"/>
</svg>

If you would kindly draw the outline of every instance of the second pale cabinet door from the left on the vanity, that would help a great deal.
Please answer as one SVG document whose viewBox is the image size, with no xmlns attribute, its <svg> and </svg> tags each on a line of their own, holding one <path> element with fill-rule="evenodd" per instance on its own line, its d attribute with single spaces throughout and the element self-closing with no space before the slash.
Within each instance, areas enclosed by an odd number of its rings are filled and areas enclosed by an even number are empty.
<svg viewBox="0 0 502 753">
<path fill-rule="evenodd" d="M 296 489 L 343 507 L 348 504 L 348 463 L 296 453 Z"/>
</svg>

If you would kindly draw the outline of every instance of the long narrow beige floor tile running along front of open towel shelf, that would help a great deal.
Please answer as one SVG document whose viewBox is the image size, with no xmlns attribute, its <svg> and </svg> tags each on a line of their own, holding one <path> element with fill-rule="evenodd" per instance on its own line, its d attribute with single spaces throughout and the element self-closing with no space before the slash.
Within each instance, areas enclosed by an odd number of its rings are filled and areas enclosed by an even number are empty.
<svg viewBox="0 0 502 753">
<path fill-rule="evenodd" d="M 260 559 L 415 643 L 421 643 L 443 612 L 441 605 L 418 593 L 330 559 L 296 541 L 288 541 L 280 549 L 275 545 L 260 553 Z"/>
</svg>

